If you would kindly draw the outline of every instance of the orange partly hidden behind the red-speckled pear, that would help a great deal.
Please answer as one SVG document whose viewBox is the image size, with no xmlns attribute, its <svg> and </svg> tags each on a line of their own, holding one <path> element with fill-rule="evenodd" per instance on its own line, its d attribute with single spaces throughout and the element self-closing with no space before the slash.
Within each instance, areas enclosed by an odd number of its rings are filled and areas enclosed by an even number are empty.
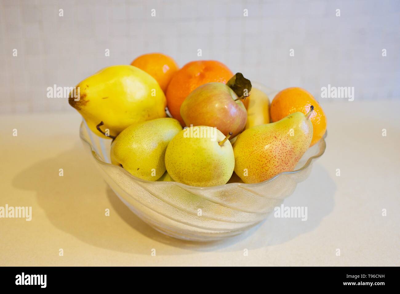
<svg viewBox="0 0 400 294">
<path fill-rule="evenodd" d="M 314 106 L 310 120 L 312 122 L 313 135 L 311 145 L 314 145 L 322 138 L 326 131 L 326 117 L 319 103 L 312 95 L 299 87 L 291 87 L 280 91 L 272 100 L 270 113 L 272 122 L 278 121 L 290 113 L 310 111 L 310 106 Z"/>
</svg>

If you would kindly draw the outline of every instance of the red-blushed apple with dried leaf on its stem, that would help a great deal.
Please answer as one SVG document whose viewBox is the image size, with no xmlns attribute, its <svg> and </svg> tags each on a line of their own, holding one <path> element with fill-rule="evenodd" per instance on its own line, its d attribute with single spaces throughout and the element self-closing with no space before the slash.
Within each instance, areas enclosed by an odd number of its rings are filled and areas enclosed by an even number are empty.
<svg viewBox="0 0 400 294">
<path fill-rule="evenodd" d="M 224 83 L 206 83 L 194 89 L 183 101 L 180 115 L 185 124 L 216 127 L 232 138 L 245 127 L 247 111 L 238 95 Z"/>
</svg>

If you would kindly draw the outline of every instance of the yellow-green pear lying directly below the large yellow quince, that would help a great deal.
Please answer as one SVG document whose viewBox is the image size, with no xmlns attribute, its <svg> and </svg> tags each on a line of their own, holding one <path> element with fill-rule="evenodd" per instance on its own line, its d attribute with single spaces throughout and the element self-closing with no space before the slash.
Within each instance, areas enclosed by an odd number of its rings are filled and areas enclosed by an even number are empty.
<svg viewBox="0 0 400 294">
<path fill-rule="evenodd" d="M 111 162 L 139 179 L 156 181 L 165 172 L 168 143 L 182 130 L 176 119 L 144 121 L 124 129 L 111 144 Z"/>
</svg>

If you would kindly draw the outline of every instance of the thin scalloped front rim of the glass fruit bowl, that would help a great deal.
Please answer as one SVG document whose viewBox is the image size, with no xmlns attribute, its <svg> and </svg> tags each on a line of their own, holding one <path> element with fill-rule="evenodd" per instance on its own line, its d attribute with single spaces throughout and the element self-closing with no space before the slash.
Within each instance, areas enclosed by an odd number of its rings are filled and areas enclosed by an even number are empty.
<svg viewBox="0 0 400 294">
<path fill-rule="evenodd" d="M 80 129 L 82 129 L 83 125 L 86 125 L 86 131 L 90 132 L 91 130 L 89 129 L 89 127 L 87 126 L 87 123 L 85 121 L 85 119 L 82 117 L 82 122 L 80 124 Z M 128 175 L 129 177 L 132 177 L 132 179 L 134 179 L 135 181 L 140 181 L 142 183 L 148 183 L 148 184 L 156 184 L 156 185 L 164 185 L 166 183 L 174 183 L 180 187 L 182 187 L 183 189 L 196 189 L 196 190 L 214 190 L 214 189 L 224 189 L 230 186 L 234 186 L 234 185 L 239 185 L 240 187 L 258 187 L 261 185 L 265 185 L 266 183 L 269 183 L 271 181 L 273 181 L 274 179 L 276 179 L 277 177 L 281 176 L 281 175 L 285 175 L 285 174 L 294 174 L 294 173 L 298 173 L 300 171 L 303 171 L 304 169 L 306 169 L 313 160 L 316 160 L 318 157 L 321 157 L 322 154 L 325 153 L 326 150 L 326 141 L 325 138 L 328 135 L 328 130 L 325 131 L 324 136 L 322 136 L 322 138 L 318 141 L 318 143 L 316 144 L 322 144 L 320 147 L 320 152 L 316 155 L 311 156 L 310 158 L 307 159 L 306 163 L 300 167 L 299 169 L 296 169 L 294 171 L 284 171 L 282 173 L 278 173 L 277 175 L 275 175 L 274 177 L 271 177 L 269 179 L 266 179 L 265 181 L 262 181 L 260 183 L 252 183 L 252 184 L 246 184 L 246 183 L 226 183 L 224 185 L 218 185 L 218 186 L 210 186 L 210 187 L 197 187 L 197 186 L 190 186 L 190 185 L 186 185 L 184 183 L 179 183 L 179 182 L 174 182 L 174 181 L 147 181 L 147 180 L 143 180 L 143 179 L 139 179 L 137 177 L 135 177 L 134 175 L 131 175 L 130 173 L 128 173 L 128 171 L 126 171 L 126 169 L 123 169 L 122 167 L 118 166 L 118 165 L 113 165 L 112 163 L 106 163 L 104 161 L 102 161 L 102 159 L 100 159 L 100 157 L 98 156 L 97 151 L 94 149 L 93 145 L 88 142 L 84 137 L 82 137 L 82 132 L 80 132 L 79 136 L 82 139 L 82 141 L 84 141 L 86 144 L 89 145 L 90 149 L 91 149 L 91 153 L 93 158 L 100 164 L 102 165 L 106 165 L 106 166 L 110 166 L 112 168 L 118 168 L 118 169 L 122 169 L 122 171 Z M 100 139 L 104 139 L 104 138 L 100 138 Z M 233 173 L 232 173 L 233 174 Z"/>
</svg>

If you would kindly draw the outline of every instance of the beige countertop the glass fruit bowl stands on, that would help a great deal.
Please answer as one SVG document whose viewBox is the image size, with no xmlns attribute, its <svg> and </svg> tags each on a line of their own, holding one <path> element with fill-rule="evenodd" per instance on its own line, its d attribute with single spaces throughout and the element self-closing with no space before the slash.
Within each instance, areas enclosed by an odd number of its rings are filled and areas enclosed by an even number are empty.
<svg viewBox="0 0 400 294">
<path fill-rule="evenodd" d="M 398 266 L 400 101 L 322 106 L 326 152 L 284 201 L 307 206 L 308 220 L 270 215 L 210 244 L 166 237 L 131 213 L 80 142 L 75 111 L 1 115 L 0 207 L 32 207 L 32 220 L 0 219 L 0 266 Z"/>
</svg>

